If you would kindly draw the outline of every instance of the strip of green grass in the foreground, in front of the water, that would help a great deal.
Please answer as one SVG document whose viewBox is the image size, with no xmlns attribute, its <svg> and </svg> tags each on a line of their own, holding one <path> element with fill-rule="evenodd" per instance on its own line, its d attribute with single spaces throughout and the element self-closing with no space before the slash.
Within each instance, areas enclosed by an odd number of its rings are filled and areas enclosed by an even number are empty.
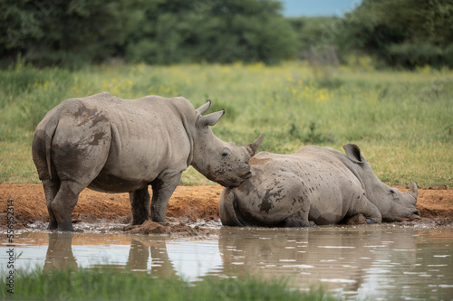
<svg viewBox="0 0 453 301">
<path fill-rule="evenodd" d="M 322 289 L 301 293 L 284 280 L 262 277 L 205 277 L 189 283 L 177 277 L 152 277 L 117 269 L 18 271 L 14 295 L 0 297 L 33 300 L 335 300 Z"/>
</svg>

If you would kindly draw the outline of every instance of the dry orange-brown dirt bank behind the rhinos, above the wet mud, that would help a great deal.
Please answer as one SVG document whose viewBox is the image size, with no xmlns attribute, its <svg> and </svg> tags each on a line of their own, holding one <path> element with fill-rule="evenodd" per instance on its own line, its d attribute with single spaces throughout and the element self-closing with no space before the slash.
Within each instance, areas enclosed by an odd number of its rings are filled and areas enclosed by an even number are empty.
<svg viewBox="0 0 453 301">
<path fill-rule="evenodd" d="M 404 186 L 396 187 L 401 191 L 407 190 Z M 222 187 L 219 185 L 178 186 L 169 201 L 167 216 L 170 221 L 177 222 L 181 219 L 217 220 L 217 205 L 221 192 Z M 5 229 L 6 225 L 8 200 L 14 201 L 16 229 L 26 228 L 28 224 L 36 221 L 48 221 L 41 184 L 0 184 L 0 214 L 4 216 L 0 224 L 2 229 Z M 423 222 L 453 223 L 453 188 L 445 185 L 420 188 L 417 209 Z M 72 221 L 93 222 L 99 219 L 129 222 L 129 194 L 107 194 L 84 190 L 72 214 Z M 161 232 L 171 231 L 171 229 L 160 229 L 156 225 L 147 226 L 148 229 L 156 228 Z M 124 230 L 137 231 L 127 227 Z"/>
</svg>

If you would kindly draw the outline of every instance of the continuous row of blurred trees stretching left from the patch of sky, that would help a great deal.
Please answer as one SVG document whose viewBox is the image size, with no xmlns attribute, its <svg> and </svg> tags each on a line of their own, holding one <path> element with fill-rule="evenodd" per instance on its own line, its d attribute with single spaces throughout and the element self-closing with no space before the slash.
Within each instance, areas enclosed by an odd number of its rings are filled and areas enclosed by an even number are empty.
<svg viewBox="0 0 453 301">
<path fill-rule="evenodd" d="M 281 9 L 276 0 L 4 0 L 0 60 L 275 63 L 295 52 Z"/>
</svg>

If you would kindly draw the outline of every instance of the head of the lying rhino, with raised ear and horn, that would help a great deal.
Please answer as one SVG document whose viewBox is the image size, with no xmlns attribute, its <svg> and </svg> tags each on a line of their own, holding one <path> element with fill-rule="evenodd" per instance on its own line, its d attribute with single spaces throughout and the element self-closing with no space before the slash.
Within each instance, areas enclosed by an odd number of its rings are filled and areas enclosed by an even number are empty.
<svg viewBox="0 0 453 301">
<path fill-rule="evenodd" d="M 366 197 L 382 214 L 383 221 L 404 221 L 419 219 L 417 184 L 412 183 L 410 190 L 401 193 L 398 189 L 382 183 L 373 173 L 371 166 L 361 155 L 359 146 L 343 146 L 347 158 L 352 162 L 350 169 L 359 178 Z"/>
</svg>

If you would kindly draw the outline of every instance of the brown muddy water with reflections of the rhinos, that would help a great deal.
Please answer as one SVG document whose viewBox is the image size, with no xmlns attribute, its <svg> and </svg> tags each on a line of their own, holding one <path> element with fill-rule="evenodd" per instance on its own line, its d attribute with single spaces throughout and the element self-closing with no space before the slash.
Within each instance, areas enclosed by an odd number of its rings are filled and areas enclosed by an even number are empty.
<svg viewBox="0 0 453 301">
<path fill-rule="evenodd" d="M 191 281 L 251 273 L 288 277 L 303 290 L 321 284 L 343 299 L 453 299 L 453 228 L 223 227 L 207 240 L 24 232 L 14 242 L 23 252 L 16 268 L 111 266 Z M 5 249 L 3 236 L 3 270 Z"/>
</svg>

